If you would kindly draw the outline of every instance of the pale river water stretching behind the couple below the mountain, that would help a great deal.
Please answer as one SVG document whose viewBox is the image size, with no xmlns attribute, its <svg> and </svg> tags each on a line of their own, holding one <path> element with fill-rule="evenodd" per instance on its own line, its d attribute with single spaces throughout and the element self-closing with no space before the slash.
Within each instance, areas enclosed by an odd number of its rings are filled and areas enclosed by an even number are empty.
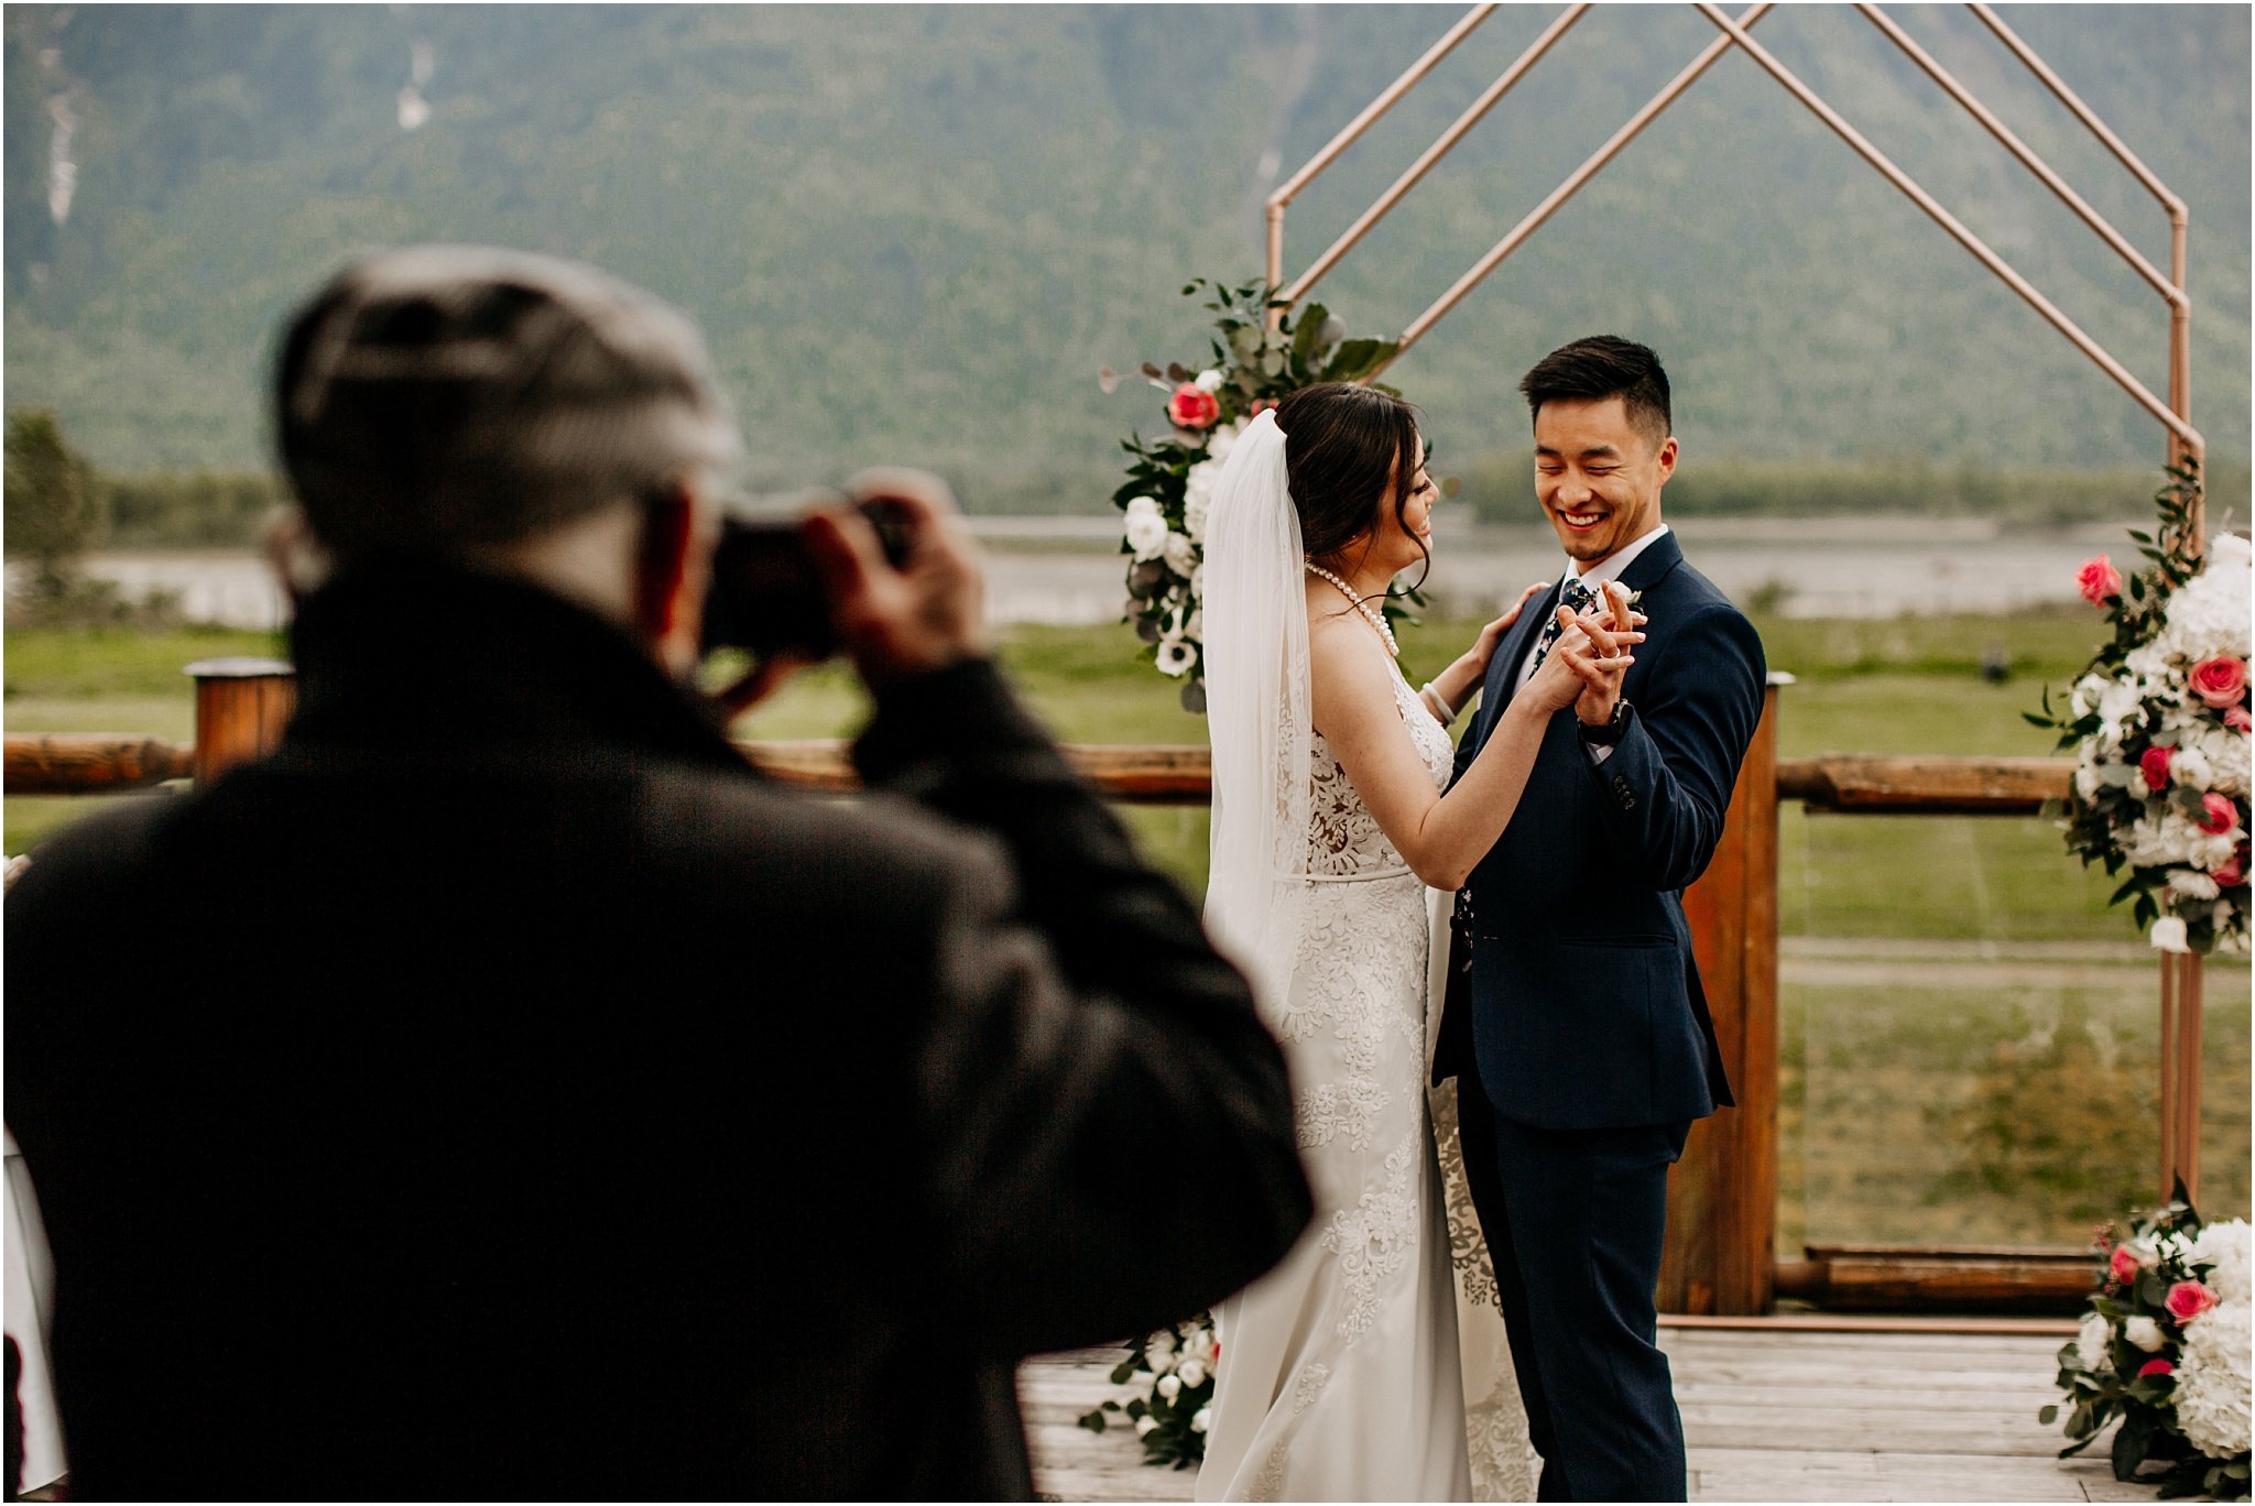
<svg viewBox="0 0 2255 1506">
<path fill-rule="evenodd" d="M 1125 557 L 1112 519 L 974 519 L 988 552 L 988 613 L 997 622 L 1116 622 Z M 2005 530 L 1935 519 L 1689 519 L 1684 552 L 1736 602 L 1770 597 L 1793 618 L 2007 613 L 2070 600 L 2075 570 L 2097 552 L 2135 561 L 2135 523 Z M 1470 528 L 1443 516 L 1427 593 L 1443 613 L 1475 615 L 1565 566 L 1547 525 Z M 86 561 L 129 597 L 174 591 L 198 622 L 277 627 L 286 602 L 248 550 L 108 552 Z M 9 593 L 23 566 L 9 566 Z"/>
</svg>

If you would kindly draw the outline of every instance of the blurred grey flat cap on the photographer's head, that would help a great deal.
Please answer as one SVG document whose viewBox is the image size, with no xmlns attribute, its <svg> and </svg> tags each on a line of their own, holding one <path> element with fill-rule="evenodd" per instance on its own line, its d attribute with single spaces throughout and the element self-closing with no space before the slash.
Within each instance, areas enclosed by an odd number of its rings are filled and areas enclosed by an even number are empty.
<svg viewBox="0 0 2255 1506">
<path fill-rule="evenodd" d="M 742 462 L 688 316 L 492 246 L 341 271 L 291 320 L 275 404 L 298 500 L 341 552 L 507 543 Z"/>
</svg>

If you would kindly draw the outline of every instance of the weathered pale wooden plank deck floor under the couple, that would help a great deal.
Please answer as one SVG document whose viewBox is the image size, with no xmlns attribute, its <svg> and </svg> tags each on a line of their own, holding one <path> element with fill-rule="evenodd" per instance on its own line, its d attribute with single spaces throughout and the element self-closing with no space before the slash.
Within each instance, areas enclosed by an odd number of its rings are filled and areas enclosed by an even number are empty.
<svg viewBox="0 0 2255 1506">
<path fill-rule="evenodd" d="M 2149 1501 L 2095 1459 L 2057 1459 L 2061 1323 L 1996 1332 L 1664 1326 L 1694 1501 Z M 1019 1396 L 1035 1488 L 1064 1501 L 1186 1501 L 1191 1470 L 1141 1463 L 1134 1434 L 1073 1418 L 1114 1396 L 1116 1350 L 1031 1362 Z"/>
</svg>

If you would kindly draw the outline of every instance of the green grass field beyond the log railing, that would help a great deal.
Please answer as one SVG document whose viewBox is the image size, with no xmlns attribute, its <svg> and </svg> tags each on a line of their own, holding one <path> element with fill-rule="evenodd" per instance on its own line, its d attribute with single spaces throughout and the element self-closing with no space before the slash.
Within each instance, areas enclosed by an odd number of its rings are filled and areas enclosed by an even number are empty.
<svg viewBox="0 0 2255 1506">
<path fill-rule="evenodd" d="M 1473 636 L 1430 622 L 1403 640 L 1423 681 Z M 1779 751 L 2048 755 L 2027 726 L 2041 688 L 2081 667 L 2093 618 L 1759 622 L 1781 692 Z M 1996 649 L 2011 676 L 1991 685 Z M 7 728 L 189 739 L 180 667 L 277 654 L 268 634 L 7 636 Z M 1137 661 L 1121 627 L 1022 627 L 1001 658 L 1067 742 L 1204 742 L 1177 685 Z M 868 701 L 834 665 L 746 715 L 740 737 L 846 737 Z M 23 852 L 90 809 L 11 796 L 5 848 Z M 1143 848 L 1193 893 L 1206 870 L 1202 807 L 1123 807 Z M 1809 816 L 1779 830 L 1779 1247 L 1804 1240 L 2081 1242 L 2151 1195 L 2156 976 L 2111 886 L 2066 857 L 2041 818 Z M 2113 942 L 2093 949 L 2090 942 Z M 2248 1208 L 2248 974 L 2210 969 L 2205 1197 Z"/>
</svg>

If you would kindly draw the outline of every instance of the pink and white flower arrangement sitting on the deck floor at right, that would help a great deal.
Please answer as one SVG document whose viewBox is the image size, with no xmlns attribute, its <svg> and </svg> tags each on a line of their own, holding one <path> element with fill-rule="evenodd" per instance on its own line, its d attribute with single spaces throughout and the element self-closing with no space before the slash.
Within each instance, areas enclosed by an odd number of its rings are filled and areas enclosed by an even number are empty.
<svg viewBox="0 0 2255 1506">
<path fill-rule="evenodd" d="M 2059 1350 L 2072 1443 L 2061 1459 L 2113 1438 L 2115 1479 L 2158 1483 L 2163 1497 L 2248 1497 L 2248 1224 L 2203 1224 L 2185 1202 L 2095 1240 L 2099 1292 L 2081 1332 Z M 2059 1405 L 2036 1414 L 2059 1420 Z M 2147 1472 L 2147 1465 L 2160 1465 Z"/>
</svg>

